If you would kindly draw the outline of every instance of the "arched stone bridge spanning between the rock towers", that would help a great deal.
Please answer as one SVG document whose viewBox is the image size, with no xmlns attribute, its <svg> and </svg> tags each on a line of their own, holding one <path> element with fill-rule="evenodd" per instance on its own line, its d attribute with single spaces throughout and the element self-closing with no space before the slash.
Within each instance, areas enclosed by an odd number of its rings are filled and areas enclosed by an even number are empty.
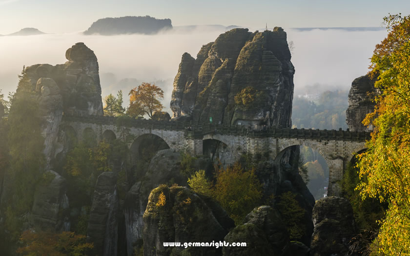
<svg viewBox="0 0 410 256">
<path fill-rule="evenodd" d="M 64 115 L 62 127 L 62 131 L 74 134 L 77 139 L 92 136 L 97 142 L 103 139 L 125 139 L 131 135 L 129 147 L 142 136 L 155 135 L 162 138 L 169 148 L 191 155 L 202 155 L 204 141 L 214 139 L 225 144 L 222 149 L 225 164 L 235 162 L 244 153 L 263 154 L 269 159 L 279 161 L 287 148 L 305 145 L 318 151 L 328 164 L 329 196 L 340 195 L 337 181 L 342 179 L 344 169 L 353 155 L 364 150 L 365 141 L 370 138 L 369 132 L 350 132 L 349 129 L 336 131 L 273 127 L 266 131 L 256 131 L 244 125 L 196 126 L 177 121 L 97 116 Z"/>
</svg>

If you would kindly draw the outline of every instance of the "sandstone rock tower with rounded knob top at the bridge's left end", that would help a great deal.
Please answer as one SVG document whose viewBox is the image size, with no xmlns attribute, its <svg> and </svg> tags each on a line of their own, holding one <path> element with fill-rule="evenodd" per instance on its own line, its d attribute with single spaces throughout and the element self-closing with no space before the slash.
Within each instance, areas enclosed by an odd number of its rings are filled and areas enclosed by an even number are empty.
<svg viewBox="0 0 410 256">
<path fill-rule="evenodd" d="M 68 61 L 64 64 L 27 67 L 26 76 L 33 89 L 39 79 L 53 79 L 60 89 L 64 113 L 102 116 L 99 67 L 94 52 L 79 42 L 66 51 L 65 57 Z"/>
</svg>

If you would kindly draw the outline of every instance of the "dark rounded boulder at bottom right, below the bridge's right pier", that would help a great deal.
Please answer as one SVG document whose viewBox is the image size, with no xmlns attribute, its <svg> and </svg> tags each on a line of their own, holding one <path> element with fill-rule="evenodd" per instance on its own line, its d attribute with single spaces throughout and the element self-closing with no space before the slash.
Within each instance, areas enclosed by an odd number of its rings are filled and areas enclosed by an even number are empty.
<svg viewBox="0 0 410 256">
<path fill-rule="evenodd" d="M 312 256 L 343 256 L 356 234 L 353 210 L 343 197 L 325 197 L 313 207 L 314 231 L 310 244 Z"/>
</svg>

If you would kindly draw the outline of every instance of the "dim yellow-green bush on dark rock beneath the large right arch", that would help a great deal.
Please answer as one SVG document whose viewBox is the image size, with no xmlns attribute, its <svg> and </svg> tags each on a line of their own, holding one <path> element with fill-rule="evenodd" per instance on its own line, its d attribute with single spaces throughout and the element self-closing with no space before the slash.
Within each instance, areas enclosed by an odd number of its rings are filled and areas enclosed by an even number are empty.
<svg viewBox="0 0 410 256">
<path fill-rule="evenodd" d="M 290 240 L 297 240 L 305 235 L 305 210 L 299 206 L 296 195 L 290 191 L 283 193 L 276 206 L 285 222 Z"/>
</svg>

